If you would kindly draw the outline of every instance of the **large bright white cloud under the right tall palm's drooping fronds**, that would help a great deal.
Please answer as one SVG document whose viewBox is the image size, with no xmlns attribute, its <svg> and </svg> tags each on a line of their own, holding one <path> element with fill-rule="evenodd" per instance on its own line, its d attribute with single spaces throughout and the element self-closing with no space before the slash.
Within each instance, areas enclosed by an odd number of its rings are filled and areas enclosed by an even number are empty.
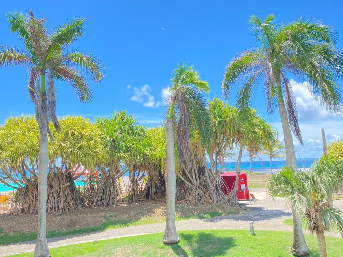
<svg viewBox="0 0 343 257">
<path fill-rule="evenodd" d="M 299 121 L 327 120 L 337 118 L 337 115 L 322 109 L 308 90 L 307 83 L 298 83 L 293 78 L 289 81 L 292 84 L 298 106 Z"/>
</svg>

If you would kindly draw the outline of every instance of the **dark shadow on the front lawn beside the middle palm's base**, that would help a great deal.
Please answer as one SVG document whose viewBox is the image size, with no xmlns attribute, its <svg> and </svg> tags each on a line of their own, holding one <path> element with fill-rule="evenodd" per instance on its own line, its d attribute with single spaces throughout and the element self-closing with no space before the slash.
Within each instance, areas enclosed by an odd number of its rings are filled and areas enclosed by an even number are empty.
<svg viewBox="0 0 343 257">
<path fill-rule="evenodd" d="M 170 248 L 177 256 L 223 256 L 227 250 L 236 246 L 235 238 L 232 236 L 216 236 L 211 232 L 189 234 L 179 232 L 179 244 L 171 245 Z M 185 242 L 183 244 L 182 242 Z M 182 248 L 182 246 L 184 249 Z M 191 252 L 192 254 L 188 254 Z"/>
</svg>

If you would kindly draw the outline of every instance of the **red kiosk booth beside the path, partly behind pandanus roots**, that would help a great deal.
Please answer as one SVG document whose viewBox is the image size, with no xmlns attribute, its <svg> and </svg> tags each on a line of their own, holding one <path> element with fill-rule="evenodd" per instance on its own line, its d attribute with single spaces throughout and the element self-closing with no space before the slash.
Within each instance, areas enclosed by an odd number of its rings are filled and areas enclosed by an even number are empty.
<svg viewBox="0 0 343 257">
<path fill-rule="evenodd" d="M 222 178 L 227 185 L 227 187 L 222 185 L 222 191 L 225 193 L 225 195 L 228 195 L 235 186 L 236 172 L 224 172 L 222 173 Z M 241 172 L 239 174 L 237 184 L 237 198 L 238 200 L 249 200 L 250 198 L 246 172 Z"/>
</svg>

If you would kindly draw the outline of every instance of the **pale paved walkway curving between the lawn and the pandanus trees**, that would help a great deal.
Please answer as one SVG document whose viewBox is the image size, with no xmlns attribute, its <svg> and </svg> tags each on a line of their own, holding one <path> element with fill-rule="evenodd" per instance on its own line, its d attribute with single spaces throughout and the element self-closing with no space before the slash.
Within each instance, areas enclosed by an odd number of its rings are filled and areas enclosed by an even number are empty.
<svg viewBox="0 0 343 257">
<path fill-rule="evenodd" d="M 255 223 L 255 231 L 274 230 L 289 231 L 293 228 L 283 224 L 285 219 L 292 218 L 291 212 L 285 208 L 281 200 L 271 203 L 265 195 L 265 189 L 253 188 L 251 193 L 258 198 L 258 205 L 242 204 L 242 206 L 251 208 L 252 211 L 243 214 L 215 217 L 210 219 L 182 220 L 176 222 L 178 231 L 182 230 L 209 230 L 209 229 L 250 229 L 250 221 Z M 335 201 L 335 205 L 343 210 L 343 200 Z M 138 225 L 126 228 L 111 229 L 94 233 L 78 234 L 71 236 L 62 236 L 48 239 L 49 248 L 62 245 L 71 245 L 86 243 L 94 240 L 105 240 L 123 236 L 144 235 L 151 233 L 163 232 L 165 223 L 155 223 Z M 304 230 L 304 233 L 308 231 Z M 330 236 L 341 237 L 339 233 L 330 233 Z M 16 253 L 33 252 L 35 241 L 22 242 L 0 246 L 0 256 L 11 255 Z"/>
</svg>

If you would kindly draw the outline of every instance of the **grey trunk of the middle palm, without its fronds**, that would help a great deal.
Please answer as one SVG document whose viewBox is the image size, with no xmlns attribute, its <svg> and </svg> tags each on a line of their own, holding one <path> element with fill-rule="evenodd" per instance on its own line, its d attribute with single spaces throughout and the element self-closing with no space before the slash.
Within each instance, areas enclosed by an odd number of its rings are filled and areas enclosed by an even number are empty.
<svg viewBox="0 0 343 257">
<path fill-rule="evenodd" d="M 175 152 L 174 152 L 174 133 L 173 120 L 166 121 L 166 204 L 167 217 L 166 228 L 163 235 L 163 243 L 176 244 L 179 236 L 175 226 L 175 193 L 176 193 L 176 174 L 175 174 Z"/>
</svg>

